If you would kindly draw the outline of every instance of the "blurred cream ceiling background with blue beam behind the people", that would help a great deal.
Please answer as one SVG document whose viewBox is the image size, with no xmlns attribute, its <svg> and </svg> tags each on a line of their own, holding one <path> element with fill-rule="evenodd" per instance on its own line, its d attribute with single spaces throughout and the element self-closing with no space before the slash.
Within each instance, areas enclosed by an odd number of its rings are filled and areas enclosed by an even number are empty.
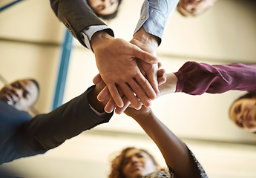
<svg viewBox="0 0 256 178">
<path fill-rule="evenodd" d="M 0 8 L 13 1 L 1 0 Z M 116 38 L 132 38 L 142 2 L 123 0 L 117 18 L 106 22 Z M 254 0 L 218 0 L 195 18 L 183 17 L 175 10 L 157 56 L 168 73 L 187 61 L 256 64 L 255 18 Z M 0 87 L 26 77 L 39 81 L 41 93 L 32 114 L 52 111 L 58 103 L 68 102 L 93 85 L 98 73 L 93 53 L 73 37 L 65 42 L 65 26 L 51 10 L 50 1 L 19 1 L 0 11 L 0 22 Z M 69 52 L 70 58 L 63 59 L 62 54 Z M 256 134 L 240 130 L 229 119 L 229 106 L 243 93 L 173 93 L 155 100 L 152 109 L 194 152 L 209 177 L 252 178 L 256 177 Z M 111 157 L 126 146 L 145 148 L 165 167 L 154 142 L 122 114 L 46 154 L 0 168 L 17 177 L 103 178 L 108 176 Z"/>
</svg>

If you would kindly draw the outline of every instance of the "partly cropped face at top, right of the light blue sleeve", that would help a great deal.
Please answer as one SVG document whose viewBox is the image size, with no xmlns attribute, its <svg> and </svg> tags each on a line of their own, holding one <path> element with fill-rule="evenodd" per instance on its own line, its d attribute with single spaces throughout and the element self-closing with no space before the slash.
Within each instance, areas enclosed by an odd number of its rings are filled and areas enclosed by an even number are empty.
<svg viewBox="0 0 256 178">
<path fill-rule="evenodd" d="M 217 0 L 180 0 L 177 9 L 183 16 L 197 16 L 213 6 Z"/>
</svg>

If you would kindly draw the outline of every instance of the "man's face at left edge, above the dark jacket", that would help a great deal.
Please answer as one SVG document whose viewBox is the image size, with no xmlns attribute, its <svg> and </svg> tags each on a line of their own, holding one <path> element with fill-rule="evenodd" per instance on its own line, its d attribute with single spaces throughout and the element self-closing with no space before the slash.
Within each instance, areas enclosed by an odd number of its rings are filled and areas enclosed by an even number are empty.
<svg viewBox="0 0 256 178">
<path fill-rule="evenodd" d="M 36 84 L 29 79 L 17 80 L 0 90 L 0 99 L 19 111 L 28 111 L 36 102 L 38 95 Z"/>
</svg>

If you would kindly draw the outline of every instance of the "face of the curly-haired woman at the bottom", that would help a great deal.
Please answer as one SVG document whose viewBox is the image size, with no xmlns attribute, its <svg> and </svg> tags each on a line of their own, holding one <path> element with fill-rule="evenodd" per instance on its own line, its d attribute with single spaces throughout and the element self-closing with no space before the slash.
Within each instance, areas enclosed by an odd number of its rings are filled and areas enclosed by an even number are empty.
<svg viewBox="0 0 256 178">
<path fill-rule="evenodd" d="M 122 174 L 125 178 L 139 178 L 157 171 L 151 157 L 143 151 L 131 149 L 125 154 L 122 164 Z"/>
</svg>

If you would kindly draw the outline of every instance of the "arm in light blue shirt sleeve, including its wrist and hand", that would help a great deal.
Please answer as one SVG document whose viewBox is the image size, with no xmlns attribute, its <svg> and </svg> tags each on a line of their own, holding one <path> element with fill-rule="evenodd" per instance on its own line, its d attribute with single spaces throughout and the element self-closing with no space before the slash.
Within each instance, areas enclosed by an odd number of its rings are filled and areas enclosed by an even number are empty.
<svg viewBox="0 0 256 178">
<path fill-rule="evenodd" d="M 131 43 L 142 50 L 157 56 L 156 50 L 161 43 L 168 16 L 174 12 L 179 0 L 145 0 L 142 4 L 141 14 L 134 37 Z M 137 60 L 140 70 L 147 77 L 157 96 L 160 94 L 157 84 L 157 64 L 148 64 Z"/>
</svg>

